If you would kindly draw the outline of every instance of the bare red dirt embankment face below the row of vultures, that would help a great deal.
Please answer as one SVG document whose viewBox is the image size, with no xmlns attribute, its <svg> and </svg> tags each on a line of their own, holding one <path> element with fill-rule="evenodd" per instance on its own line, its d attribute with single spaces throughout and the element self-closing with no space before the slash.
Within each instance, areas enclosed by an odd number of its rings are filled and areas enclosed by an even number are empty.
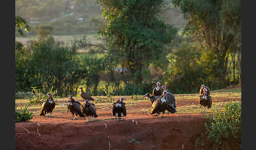
<svg viewBox="0 0 256 150">
<path fill-rule="evenodd" d="M 15 123 L 16 149 L 194 149 L 205 121 L 205 114 L 179 114 L 134 122 Z M 128 142 L 133 138 L 139 143 Z"/>
</svg>

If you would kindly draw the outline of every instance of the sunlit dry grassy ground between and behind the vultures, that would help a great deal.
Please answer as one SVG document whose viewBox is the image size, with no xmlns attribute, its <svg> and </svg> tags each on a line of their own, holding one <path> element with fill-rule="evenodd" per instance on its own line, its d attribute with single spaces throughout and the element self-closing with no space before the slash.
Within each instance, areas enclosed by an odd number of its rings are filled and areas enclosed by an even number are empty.
<svg viewBox="0 0 256 150">
<path fill-rule="evenodd" d="M 230 100 L 232 101 L 241 101 L 241 88 L 232 89 L 231 91 L 227 89 L 222 89 L 214 91 L 211 93 L 211 97 L 213 99 L 212 109 L 218 108 L 220 111 L 223 111 L 223 106 L 227 104 Z M 233 92 L 238 91 L 238 92 Z M 240 92 L 239 92 L 240 91 Z M 178 114 L 186 114 L 186 113 L 199 113 L 199 103 L 198 103 L 198 93 L 195 94 L 174 94 L 176 99 L 176 106 L 178 110 Z M 119 99 L 121 96 L 113 96 L 113 100 Z M 143 106 L 144 104 L 149 104 L 149 99 L 143 98 L 143 95 L 129 95 L 124 96 L 126 101 L 126 106 L 130 108 L 134 108 L 132 110 L 127 110 L 127 112 L 142 112 L 142 113 L 149 113 L 150 107 Z M 97 105 L 97 109 L 109 109 L 113 100 L 111 101 L 109 98 L 105 96 L 95 96 L 94 103 Z M 80 97 L 74 98 L 77 101 L 82 101 Z M 54 98 L 56 102 L 56 106 L 54 111 L 56 112 L 67 112 L 66 105 L 61 105 L 68 101 L 68 98 Z M 108 102 L 109 101 L 109 102 Z M 17 106 L 17 110 L 20 110 L 21 107 L 24 108 L 26 104 L 29 103 L 27 99 L 16 99 L 15 105 Z M 41 105 L 30 105 L 28 106 L 28 110 L 32 111 L 33 114 L 38 114 L 40 112 Z M 203 109 L 203 112 L 205 108 Z"/>
</svg>

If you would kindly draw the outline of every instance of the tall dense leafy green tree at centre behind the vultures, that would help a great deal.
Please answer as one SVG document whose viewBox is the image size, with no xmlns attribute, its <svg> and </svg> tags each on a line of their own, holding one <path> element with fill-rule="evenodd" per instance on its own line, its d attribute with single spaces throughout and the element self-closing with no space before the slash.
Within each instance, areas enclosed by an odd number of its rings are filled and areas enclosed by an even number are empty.
<svg viewBox="0 0 256 150">
<path fill-rule="evenodd" d="M 103 7 L 99 31 L 109 45 L 110 56 L 118 56 L 129 71 L 128 82 L 142 83 L 147 66 L 161 66 L 165 45 L 177 29 L 161 20 L 163 0 L 98 1 Z"/>
</svg>

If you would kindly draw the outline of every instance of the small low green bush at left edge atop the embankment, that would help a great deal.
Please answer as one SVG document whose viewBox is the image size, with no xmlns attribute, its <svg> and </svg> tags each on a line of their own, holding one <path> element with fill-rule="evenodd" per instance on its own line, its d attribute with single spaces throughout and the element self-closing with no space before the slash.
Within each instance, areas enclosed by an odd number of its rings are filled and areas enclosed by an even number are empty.
<svg viewBox="0 0 256 150">
<path fill-rule="evenodd" d="M 15 122 L 21 121 L 29 121 L 33 118 L 32 112 L 27 110 L 27 105 L 24 108 L 21 107 L 21 110 L 17 110 L 17 106 L 15 106 Z"/>
</svg>

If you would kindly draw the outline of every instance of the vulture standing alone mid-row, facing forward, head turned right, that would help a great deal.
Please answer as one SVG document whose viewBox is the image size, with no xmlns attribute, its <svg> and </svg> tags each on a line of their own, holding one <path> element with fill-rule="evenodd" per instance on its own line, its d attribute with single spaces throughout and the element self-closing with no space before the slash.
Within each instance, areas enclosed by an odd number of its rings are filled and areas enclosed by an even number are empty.
<svg viewBox="0 0 256 150">
<path fill-rule="evenodd" d="M 117 100 L 112 105 L 113 116 L 116 117 L 117 121 L 118 117 L 121 117 L 121 119 L 123 120 L 123 116 L 126 116 L 126 106 L 123 102 L 124 100 L 126 99 L 124 97 L 121 97 L 120 100 Z"/>
</svg>

